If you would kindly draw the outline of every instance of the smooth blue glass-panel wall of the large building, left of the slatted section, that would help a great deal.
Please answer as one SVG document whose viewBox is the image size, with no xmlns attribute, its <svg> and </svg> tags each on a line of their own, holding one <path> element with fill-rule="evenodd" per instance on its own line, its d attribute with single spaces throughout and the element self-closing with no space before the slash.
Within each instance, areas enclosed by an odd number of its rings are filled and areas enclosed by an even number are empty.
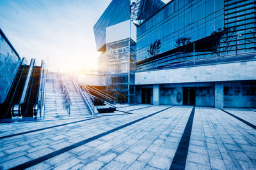
<svg viewBox="0 0 256 170">
<path fill-rule="evenodd" d="M 150 43 L 161 40 L 160 53 L 176 48 L 178 38 L 191 41 L 224 27 L 224 0 L 174 0 L 138 27 L 137 60 L 148 58 Z M 205 55 L 204 52 L 200 52 Z"/>
</svg>

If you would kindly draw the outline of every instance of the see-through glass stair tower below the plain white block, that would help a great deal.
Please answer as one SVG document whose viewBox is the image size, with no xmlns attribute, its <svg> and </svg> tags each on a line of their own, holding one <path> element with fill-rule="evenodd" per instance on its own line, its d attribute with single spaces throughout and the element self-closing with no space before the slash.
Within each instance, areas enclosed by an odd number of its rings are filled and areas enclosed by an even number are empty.
<svg viewBox="0 0 256 170">
<path fill-rule="evenodd" d="M 107 51 L 102 55 L 104 59 L 102 56 L 100 59 L 106 63 L 107 90 L 117 96 L 118 102 L 128 103 L 134 100 L 136 43 L 129 38 L 109 43 L 106 48 Z"/>
</svg>

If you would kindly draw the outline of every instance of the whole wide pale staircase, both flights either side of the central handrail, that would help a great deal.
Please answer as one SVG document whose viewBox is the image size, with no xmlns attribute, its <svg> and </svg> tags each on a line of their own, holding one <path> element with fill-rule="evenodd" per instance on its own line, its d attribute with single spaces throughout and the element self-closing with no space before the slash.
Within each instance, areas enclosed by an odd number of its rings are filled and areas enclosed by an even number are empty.
<svg viewBox="0 0 256 170">
<path fill-rule="evenodd" d="M 45 83 L 45 111 L 44 120 L 58 120 L 67 118 L 81 118 L 90 115 L 86 104 L 67 74 L 61 74 L 63 83 L 67 86 L 68 95 L 71 100 L 70 115 L 65 109 L 63 92 L 58 73 L 47 73 Z"/>
</svg>

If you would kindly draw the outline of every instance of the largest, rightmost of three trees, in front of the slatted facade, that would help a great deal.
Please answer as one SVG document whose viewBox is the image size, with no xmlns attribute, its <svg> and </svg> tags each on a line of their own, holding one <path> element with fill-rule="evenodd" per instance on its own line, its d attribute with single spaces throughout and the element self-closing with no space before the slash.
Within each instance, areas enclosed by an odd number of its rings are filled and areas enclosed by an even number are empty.
<svg viewBox="0 0 256 170">
<path fill-rule="evenodd" d="M 226 55 L 226 53 L 233 48 L 230 46 L 230 43 L 236 38 L 236 36 L 233 36 L 234 31 L 236 31 L 236 28 L 230 29 L 223 27 L 223 29 L 219 28 L 218 31 L 212 32 L 211 35 L 214 39 L 214 41 L 212 41 L 212 50 L 216 56 L 220 57 L 221 55 Z"/>
</svg>

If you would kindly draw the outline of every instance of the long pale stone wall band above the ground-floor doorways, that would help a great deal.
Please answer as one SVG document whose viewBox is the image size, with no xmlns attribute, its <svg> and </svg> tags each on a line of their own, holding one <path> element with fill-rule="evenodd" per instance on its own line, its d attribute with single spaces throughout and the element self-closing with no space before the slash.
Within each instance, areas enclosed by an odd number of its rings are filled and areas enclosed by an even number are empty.
<svg viewBox="0 0 256 170">
<path fill-rule="evenodd" d="M 136 85 L 256 80 L 256 60 L 135 73 Z"/>
</svg>

